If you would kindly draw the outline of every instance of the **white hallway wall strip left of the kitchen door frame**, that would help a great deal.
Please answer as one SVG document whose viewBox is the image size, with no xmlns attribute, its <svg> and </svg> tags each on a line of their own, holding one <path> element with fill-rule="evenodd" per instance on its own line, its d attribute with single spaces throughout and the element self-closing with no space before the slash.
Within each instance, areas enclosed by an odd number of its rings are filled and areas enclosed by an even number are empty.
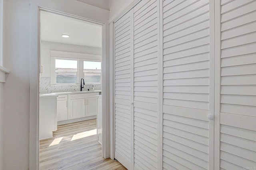
<svg viewBox="0 0 256 170">
<path fill-rule="evenodd" d="M 28 0 L 5 0 L 4 170 L 29 165 L 29 10 Z"/>
</svg>

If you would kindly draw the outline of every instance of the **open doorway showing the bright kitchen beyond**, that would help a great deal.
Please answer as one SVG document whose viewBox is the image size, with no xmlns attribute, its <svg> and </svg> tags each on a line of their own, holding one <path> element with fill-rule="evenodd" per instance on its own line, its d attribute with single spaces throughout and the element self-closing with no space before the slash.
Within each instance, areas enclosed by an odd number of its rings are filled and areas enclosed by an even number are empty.
<svg viewBox="0 0 256 170">
<path fill-rule="evenodd" d="M 103 32 L 100 23 L 40 10 L 40 170 L 103 160 Z"/>
</svg>

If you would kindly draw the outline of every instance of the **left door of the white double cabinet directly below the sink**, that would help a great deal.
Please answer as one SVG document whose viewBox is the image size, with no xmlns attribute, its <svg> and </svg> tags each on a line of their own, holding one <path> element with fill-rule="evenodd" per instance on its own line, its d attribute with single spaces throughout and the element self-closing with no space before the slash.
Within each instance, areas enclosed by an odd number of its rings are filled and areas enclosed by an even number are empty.
<svg viewBox="0 0 256 170">
<path fill-rule="evenodd" d="M 85 117 L 85 99 L 70 100 L 70 119 Z"/>
</svg>

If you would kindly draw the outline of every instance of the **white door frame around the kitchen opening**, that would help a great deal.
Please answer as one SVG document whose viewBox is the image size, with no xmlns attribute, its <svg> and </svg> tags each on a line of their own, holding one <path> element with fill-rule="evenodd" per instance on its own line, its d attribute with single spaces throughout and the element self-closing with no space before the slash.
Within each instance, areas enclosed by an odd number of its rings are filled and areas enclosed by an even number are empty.
<svg viewBox="0 0 256 170">
<path fill-rule="evenodd" d="M 82 2 L 81 2 L 82 3 Z M 84 4 L 84 3 L 82 3 Z M 108 60 L 107 60 L 107 48 L 106 48 L 106 22 L 100 22 L 97 20 L 92 20 L 85 18 L 83 16 L 78 16 L 74 14 L 69 14 L 66 12 L 61 12 L 58 10 L 53 10 L 41 6 L 37 6 L 33 8 L 30 4 L 30 31 L 31 34 L 36 35 L 37 37 L 30 36 L 30 144 L 29 144 L 29 166 L 30 169 L 39 170 L 39 73 L 40 73 L 40 12 L 50 12 L 53 14 L 58 14 L 62 16 L 67 16 L 70 18 L 75 18 L 78 20 L 90 22 L 93 24 L 97 24 L 102 26 L 102 157 L 109 157 L 109 121 L 108 121 Z M 33 10 L 33 11 L 32 11 Z M 38 16 L 33 16 L 37 11 Z M 103 12 L 109 13 L 107 10 L 103 10 Z M 37 28 L 32 28 L 32 24 L 36 24 Z M 34 38 L 34 39 L 33 39 Z M 36 40 L 35 40 L 36 39 Z M 32 42 L 37 42 L 37 44 L 33 45 Z M 36 49 L 33 49 L 32 46 Z M 37 53 L 37 57 L 32 56 L 32 53 Z M 32 72 L 34 71 L 34 72 Z M 36 82 L 33 82 L 36 81 Z M 34 104 L 34 105 L 33 105 Z M 35 121 L 36 120 L 36 121 Z"/>
</svg>

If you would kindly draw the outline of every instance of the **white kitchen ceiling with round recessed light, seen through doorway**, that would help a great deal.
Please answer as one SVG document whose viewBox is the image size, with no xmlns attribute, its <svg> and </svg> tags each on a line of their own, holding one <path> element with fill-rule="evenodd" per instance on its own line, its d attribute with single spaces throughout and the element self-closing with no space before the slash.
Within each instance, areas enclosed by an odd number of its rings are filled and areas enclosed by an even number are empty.
<svg viewBox="0 0 256 170">
<path fill-rule="evenodd" d="M 89 47 L 102 47 L 102 26 L 52 14 L 41 12 L 41 40 L 73 44 Z M 68 34 L 70 38 L 63 38 Z"/>
</svg>

